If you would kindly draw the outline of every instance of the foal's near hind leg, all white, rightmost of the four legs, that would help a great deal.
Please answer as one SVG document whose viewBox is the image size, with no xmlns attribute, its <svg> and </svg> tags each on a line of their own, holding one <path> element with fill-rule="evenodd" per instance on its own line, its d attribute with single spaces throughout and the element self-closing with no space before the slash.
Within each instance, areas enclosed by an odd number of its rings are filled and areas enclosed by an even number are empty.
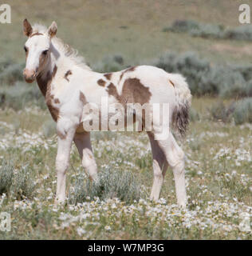
<svg viewBox="0 0 252 256">
<path fill-rule="evenodd" d="M 169 166 L 171 166 L 175 178 L 175 191 L 179 206 L 187 205 L 187 193 L 184 174 L 184 153 L 175 138 L 169 133 L 167 139 L 157 141 L 163 150 Z"/>
</svg>

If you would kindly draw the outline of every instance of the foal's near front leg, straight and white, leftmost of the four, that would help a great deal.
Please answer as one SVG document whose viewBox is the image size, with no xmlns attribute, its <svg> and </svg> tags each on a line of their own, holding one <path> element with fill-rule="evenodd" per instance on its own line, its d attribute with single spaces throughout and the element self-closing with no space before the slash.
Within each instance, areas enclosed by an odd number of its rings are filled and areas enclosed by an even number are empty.
<svg viewBox="0 0 252 256">
<path fill-rule="evenodd" d="M 56 171 L 57 171 L 57 194 L 56 202 L 65 201 L 65 174 L 69 167 L 69 158 L 71 146 L 73 143 L 73 136 L 76 127 L 67 123 L 68 126 L 64 127 L 63 123 L 57 123 L 57 157 L 56 157 Z"/>
</svg>

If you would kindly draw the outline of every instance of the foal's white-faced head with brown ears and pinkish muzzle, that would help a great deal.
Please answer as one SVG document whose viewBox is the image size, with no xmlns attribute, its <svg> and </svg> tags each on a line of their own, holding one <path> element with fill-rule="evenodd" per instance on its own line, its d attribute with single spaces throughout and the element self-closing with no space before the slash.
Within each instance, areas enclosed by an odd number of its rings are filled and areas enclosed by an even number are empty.
<svg viewBox="0 0 252 256">
<path fill-rule="evenodd" d="M 26 82 L 33 82 L 37 74 L 48 64 L 51 47 L 51 38 L 57 33 L 57 24 L 53 22 L 45 33 L 34 32 L 27 21 L 23 22 L 24 34 L 28 37 L 24 49 L 26 51 L 26 68 L 23 72 Z"/>
</svg>

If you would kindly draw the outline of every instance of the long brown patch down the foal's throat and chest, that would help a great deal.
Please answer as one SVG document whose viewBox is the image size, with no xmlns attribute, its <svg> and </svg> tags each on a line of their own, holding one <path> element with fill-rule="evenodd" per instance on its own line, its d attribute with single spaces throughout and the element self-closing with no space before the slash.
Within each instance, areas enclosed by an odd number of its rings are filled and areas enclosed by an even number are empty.
<svg viewBox="0 0 252 256">
<path fill-rule="evenodd" d="M 53 106 L 53 94 L 51 93 L 51 90 L 52 90 L 51 83 L 56 73 L 57 73 L 57 66 L 54 66 L 53 73 L 48 72 L 45 78 L 41 78 L 41 76 L 37 76 L 37 84 L 39 86 L 39 89 L 41 90 L 41 93 L 45 97 L 45 103 L 55 122 L 57 122 L 57 119 L 59 118 L 59 112 L 60 112 L 57 107 Z"/>
</svg>

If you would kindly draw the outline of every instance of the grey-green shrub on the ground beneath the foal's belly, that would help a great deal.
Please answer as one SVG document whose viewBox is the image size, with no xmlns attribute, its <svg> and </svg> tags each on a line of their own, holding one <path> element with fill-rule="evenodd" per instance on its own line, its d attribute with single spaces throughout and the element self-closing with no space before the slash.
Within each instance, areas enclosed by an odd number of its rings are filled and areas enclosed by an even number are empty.
<svg viewBox="0 0 252 256">
<path fill-rule="evenodd" d="M 119 198 L 131 203 L 140 198 L 140 185 L 131 172 L 106 168 L 98 174 L 97 182 L 85 182 L 84 178 L 77 178 L 69 202 L 76 204 L 86 201 L 87 198 L 93 200 L 95 197 L 100 200 Z"/>
</svg>

